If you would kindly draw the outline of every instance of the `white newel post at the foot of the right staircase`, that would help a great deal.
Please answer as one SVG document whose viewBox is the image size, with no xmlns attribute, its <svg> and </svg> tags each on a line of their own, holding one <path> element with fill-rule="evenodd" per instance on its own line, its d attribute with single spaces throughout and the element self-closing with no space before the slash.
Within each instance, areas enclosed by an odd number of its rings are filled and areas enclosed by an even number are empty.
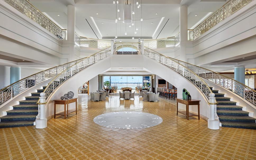
<svg viewBox="0 0 256 160">
<path fill-rule="evenodd" d="M 220 129 L 220 120 L 218 119 L 215 119 L 215 94 L 214 93 L 210 93 L 210 97 L 209 97 L 209 100 L 210 100 L 210 117 L 208 119 L 208 128 L 210 129 Z"/>
</svg>

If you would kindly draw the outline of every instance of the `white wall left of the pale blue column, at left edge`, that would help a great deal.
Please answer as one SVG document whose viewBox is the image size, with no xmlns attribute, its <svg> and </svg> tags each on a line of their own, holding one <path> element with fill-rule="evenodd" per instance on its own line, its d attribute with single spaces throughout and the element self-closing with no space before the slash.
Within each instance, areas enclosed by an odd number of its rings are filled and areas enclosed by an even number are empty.
<svg viewBox="0 0 256 160">
<path fill-rule="evenodd" d="M 10 85 L 10 67 L 0 66 L 0 89 Z"/>
</svg>

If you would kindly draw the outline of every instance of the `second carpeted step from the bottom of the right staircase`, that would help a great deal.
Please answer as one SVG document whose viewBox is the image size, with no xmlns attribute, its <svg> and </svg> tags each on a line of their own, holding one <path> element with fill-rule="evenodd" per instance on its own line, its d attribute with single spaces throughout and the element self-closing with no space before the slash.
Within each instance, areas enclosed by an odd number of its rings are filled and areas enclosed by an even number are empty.
<svg viewBox="0 0 256 160">
<path fill-rule="evenodd" d="M 232 122 L 253 122 L 255 118 L 249 116 L 235 116 L 235 115 L 218 115 L 220 121 L 232 121 Z"/>
</svg>

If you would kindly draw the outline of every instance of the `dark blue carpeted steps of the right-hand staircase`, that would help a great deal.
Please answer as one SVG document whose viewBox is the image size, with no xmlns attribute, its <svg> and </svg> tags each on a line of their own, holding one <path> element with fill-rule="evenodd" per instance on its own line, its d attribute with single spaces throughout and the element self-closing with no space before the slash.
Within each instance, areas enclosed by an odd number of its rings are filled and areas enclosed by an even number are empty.
<svg viewBox="0 0 256 160">
<path fill-rule="evenodd" d="M 255 118 L 249 117 L 249 112 L 243 111 L 242 106 L 237 106 L 236 102 L 230 101 L 229 97 L 224 97 L 223 93 L 213 90 L 217 101 L 217 115 L 222 127 L 256 129 Z"/>
</svg>

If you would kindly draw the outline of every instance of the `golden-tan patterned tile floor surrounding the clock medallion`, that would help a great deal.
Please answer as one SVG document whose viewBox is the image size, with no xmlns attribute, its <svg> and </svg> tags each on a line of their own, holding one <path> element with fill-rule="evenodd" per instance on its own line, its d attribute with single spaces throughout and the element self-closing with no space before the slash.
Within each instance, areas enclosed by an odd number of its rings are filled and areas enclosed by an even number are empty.
<svg viewBox="0 0 256 160">
<path fill-rule="evenodd" d="M 114 111 L 159 115 L 163 122 L 147 129 L 112 129 L 93 122 Z M 176 115 L 176 105 L 165 100 L 91 102 L 79 96 L 77 115 L 58 116 L 45 129 L 34 126 L 0 129 L 0 159 L 256 159 L 256 131 L 210 130 L 203 119 Z"/>
</svg>

